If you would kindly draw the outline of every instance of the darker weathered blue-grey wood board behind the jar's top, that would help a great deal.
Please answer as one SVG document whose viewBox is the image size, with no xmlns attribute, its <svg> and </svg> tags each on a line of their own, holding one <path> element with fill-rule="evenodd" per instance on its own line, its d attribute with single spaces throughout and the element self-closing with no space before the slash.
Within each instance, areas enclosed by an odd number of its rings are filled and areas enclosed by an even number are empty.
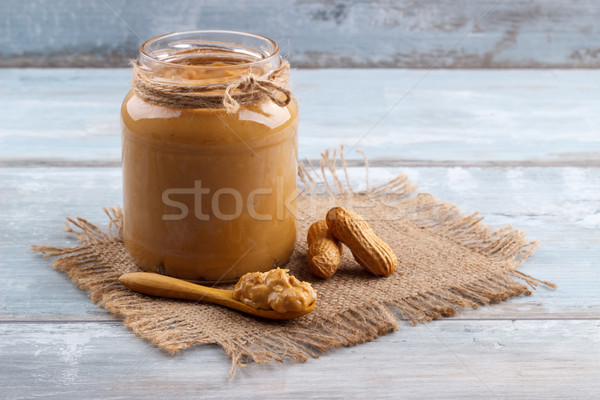
<svg viewBox="0 0 600 400">
<path fill-rule="evenodd" d="M 598 67 L 596 0 L 5 0 L 1 66 L 126 66 L 151 37 L 269 36 L 301 67 Z"/>
</svg>

